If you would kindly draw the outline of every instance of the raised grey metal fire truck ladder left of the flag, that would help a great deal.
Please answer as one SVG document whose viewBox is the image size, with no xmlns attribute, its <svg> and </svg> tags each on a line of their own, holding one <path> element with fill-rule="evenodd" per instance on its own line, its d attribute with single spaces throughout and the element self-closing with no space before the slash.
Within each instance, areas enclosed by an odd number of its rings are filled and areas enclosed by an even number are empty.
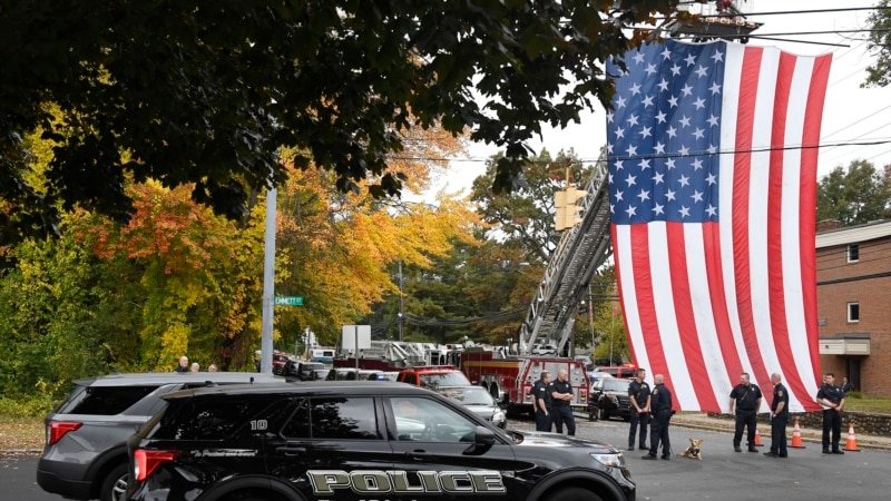
<svg viewBox="0 0 891 501">
<path fill-rule="evenodd" d="M 606 163 L 597 163 L 585 188 L 587 195 L 580 200 L 581 223 L 564 232 L 520 325 L 520 353 L 531 353 L 539 337 L 547 340 L 545 344 L 556 345 L 558 355 L 566 351 L 594 271 L 613 252 L 606 176 Z"/>
</svg>

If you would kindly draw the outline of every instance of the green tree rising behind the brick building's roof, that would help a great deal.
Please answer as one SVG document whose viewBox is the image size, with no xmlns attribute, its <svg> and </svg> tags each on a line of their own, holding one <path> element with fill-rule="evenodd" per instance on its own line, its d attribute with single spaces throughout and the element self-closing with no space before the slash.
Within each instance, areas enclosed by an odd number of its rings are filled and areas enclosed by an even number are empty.
<svg viewBox="0 0 891 501">
<path fill-rule="evenodd" d="M 816 220 L 853 226 L 891 217 L 891 168 L 877 170 L 866 160 L 835 167 L 817 183 Z"/>
</svg>

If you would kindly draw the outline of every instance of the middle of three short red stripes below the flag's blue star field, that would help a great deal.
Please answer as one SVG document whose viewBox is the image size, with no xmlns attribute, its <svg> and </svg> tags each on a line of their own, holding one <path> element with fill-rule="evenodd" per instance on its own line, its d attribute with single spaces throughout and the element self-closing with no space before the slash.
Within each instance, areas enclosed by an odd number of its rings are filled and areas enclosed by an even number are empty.
<svg viewBox="0 0 891 501">
<path fill-rule="evenodd" d="M 693 313 L 692 295 L 689 289 L 689 273 L 687 271 L 687 252 L 685 246 L 684 224 L 666 223 L 666 238 L 668 240 L 668 269 L 672 275 L 672 294 L 675 304 L 675 317 L 681 326 L 681 350 L 689 371 L 689 379 L 694 382 L 709 381 L 708 370 L 703 357 L 702 345 L 696 328 L 696 317 Z M 711 385 L 694 384 L 693 391 L 702 409 L 719 409 Z"/>
</svg>

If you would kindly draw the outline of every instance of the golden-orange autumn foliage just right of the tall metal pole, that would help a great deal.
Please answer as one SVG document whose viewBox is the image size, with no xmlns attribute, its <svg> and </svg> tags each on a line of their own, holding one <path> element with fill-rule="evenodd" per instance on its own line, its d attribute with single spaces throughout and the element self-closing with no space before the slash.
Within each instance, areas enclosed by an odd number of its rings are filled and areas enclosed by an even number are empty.
<svg viewBox="0 0 891 501">
<path fill-rule="evenodd" d="M 404 174 L 407 189 L 418 194 L 463 151 L 461 140 L 441 128 L 413 129 L 403 144 L 386 171 Z M 294 168 L 280 194 L 277 247 L 288 278 L 278 281 L 278 291 L 304 296 L 303 307 L 276 312 L 277 331 L 291 345 L 307 327 L 320 342 L 336 344 L 341 325 L 398 296 L 398 263 L 427 269 L 452 246 L 474 242 L 478 217 L 454 195 L 440 193 L 427 203 L 379 199 L 364 189 L 337 191 L 330 177 L 324 169 Z"/>
</svg>

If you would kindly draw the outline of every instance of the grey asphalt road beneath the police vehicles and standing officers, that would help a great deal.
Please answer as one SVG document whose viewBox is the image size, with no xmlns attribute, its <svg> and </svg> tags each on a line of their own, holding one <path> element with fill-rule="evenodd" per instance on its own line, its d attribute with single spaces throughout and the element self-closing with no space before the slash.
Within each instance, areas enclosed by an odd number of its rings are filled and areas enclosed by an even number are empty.
<svg viewBox="0 0 891 501">
<path fill-rule="evenodd" d="M 615 420 L 589 422 L 576 416 L 576 435 L 594 438 L 618 446 L 627 445 L 628 424 Z M 535 428 L 531 421 L 511 420 L 517 429 Z M 637 499 L 654 501 L 888 499 L 891 453 L 863 450 L 845 455 L 822 455 L 820 446 L 791 449 L 787 459 L 758 453 L 733 452 L 728 433 L 670 428 L 674 453 L 688 445 L 689 438 L 704 439 L 703 461 L 675 455 L 670 461 L 644 461 L 640 451 L 625 452 L 635 481 Z M 770 443 L 770 439 L 767 439 Z M 35 482 L 36 455 L 0 453 L 0 499 L 60 501 Z"/>
</svg>

